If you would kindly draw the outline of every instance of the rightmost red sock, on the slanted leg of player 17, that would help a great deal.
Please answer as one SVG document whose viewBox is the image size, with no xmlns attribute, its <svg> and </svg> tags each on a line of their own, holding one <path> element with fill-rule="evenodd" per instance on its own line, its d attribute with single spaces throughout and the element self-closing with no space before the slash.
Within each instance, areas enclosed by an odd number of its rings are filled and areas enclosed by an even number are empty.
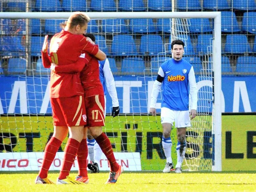
<svg viewBox="0 0 256 192">
<path fill-rule="evenodd" d="M 97 138 L 95 138 L 95 140 L 99 144 L 102 152 L 107 157 L 110 164 L 110 170 L 114 172 L 118 171 L 119 165 L 116 163 L 116 158 L 107 135 L 105 133 L 101 133 Z"/>
</svg>

